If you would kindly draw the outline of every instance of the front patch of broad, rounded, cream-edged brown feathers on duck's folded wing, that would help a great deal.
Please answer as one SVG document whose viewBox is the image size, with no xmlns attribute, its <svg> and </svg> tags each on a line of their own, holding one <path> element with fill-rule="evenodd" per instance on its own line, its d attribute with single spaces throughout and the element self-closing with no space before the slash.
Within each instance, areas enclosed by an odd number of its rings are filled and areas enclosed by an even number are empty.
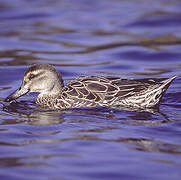
<svg viewBox="0 0 181 180">
<path fill-rule="evenodd" d="M 97 103 L 103 101 L 105 94 L 113 89 L 118 90 L 104 77 L 81 76 L 70 81 L 63 88 L 62 96 L 65 99 L 77 98 Z"/>
</svg>

